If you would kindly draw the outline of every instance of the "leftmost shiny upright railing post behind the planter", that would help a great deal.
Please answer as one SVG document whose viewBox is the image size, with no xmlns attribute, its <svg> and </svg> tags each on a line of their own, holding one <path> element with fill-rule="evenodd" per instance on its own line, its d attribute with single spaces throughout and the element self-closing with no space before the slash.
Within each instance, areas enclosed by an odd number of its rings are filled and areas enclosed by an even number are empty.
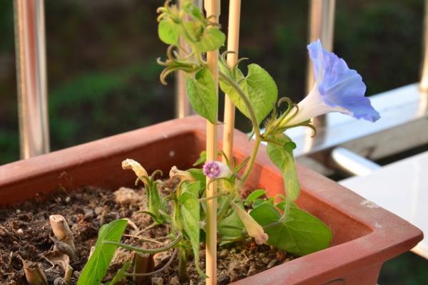
<svg viewBox="0 0 428 285">
<path fill-rule="evenodd" d="M 49 152 L 44 0 L 14 0 L 21 158 Z"/>
</svg>

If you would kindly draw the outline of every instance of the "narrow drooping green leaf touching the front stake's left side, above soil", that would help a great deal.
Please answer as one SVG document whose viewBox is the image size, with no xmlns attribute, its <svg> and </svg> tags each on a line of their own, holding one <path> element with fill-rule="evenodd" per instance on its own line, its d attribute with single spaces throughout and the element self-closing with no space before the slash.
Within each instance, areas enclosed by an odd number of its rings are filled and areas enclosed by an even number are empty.
<svg viewBox="0 0 428 285">
<path fill-rule="evenodd" d="M 181 218 L 185 233 L 192 244 L 193 255 L 195 257 L 196 271 L 200 276 L 205 276 L 199 266 L 199 243 L 200 243 L 200 203 L 197 193 L 197 187 L 200 182 L 190 183 L 188 187 L 183 187 L 183 192 L 178 199 L 180 203 Z M 195 195 L 196 194 L 196 195 Z"/>
</svg>

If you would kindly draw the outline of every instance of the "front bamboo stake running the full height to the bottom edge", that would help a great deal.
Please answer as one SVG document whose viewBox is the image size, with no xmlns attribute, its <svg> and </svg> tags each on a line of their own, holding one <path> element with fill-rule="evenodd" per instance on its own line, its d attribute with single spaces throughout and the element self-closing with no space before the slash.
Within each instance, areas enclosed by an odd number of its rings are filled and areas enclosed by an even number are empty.
<svg viewBox="0 0 428 285">
<path fill-rule="evenodd" d="M 204 8 L 211 21 L 217 22 L 220 16 L 220 0 L 205 0 Z M 218 51 L 208 51 L 208 68 L 215 82 L 218 93 Z M 207 120 L 207 160 L 217 160 L 217 127 Z M 207 197 L 217 194 L 217 185 L 207 179 Z M 217 284 L 217 199 L 207 200 L 207 235 L 206 235 L 206 267 L 207 285 Z"/>
</svg>

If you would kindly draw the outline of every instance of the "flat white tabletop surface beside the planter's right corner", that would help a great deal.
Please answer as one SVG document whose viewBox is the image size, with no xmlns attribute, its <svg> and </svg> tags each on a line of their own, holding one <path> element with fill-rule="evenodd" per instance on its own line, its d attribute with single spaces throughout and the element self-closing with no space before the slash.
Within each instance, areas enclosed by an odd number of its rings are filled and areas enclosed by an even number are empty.
<svg viewBox="0 0 428 285">
<path fill-rule="evenodd" d="M 419 227 L 425 237 L 412 252 L 428 259 L 428 152 L 340 184 Z"/>
</svg>

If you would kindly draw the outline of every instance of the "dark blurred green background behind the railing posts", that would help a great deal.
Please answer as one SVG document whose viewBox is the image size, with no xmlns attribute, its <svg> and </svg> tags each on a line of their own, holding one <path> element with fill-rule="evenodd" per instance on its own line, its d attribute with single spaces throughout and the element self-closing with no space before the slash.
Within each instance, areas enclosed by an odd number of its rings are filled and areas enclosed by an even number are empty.
<svg viewBox="0 0 428 285">
<path fill-rule="evenodd" d="M 161 86 L 159 0 L 45 0 L 51 148 L 173 118 L 173 78 Z M 305 94 L 309 1 L 246 0 L 240 56 L 269 71 L 281 96 Z M 220 21 L 227 26 L 227 1 Z M 339 0 L 335 52 L 367 94 L 419 79 L 424 0 Z M 19 159 L 13 1 L 0 1 L 0 165 Z M 221 118 L 221 117 L 220 117 Z M 238 127 L 249 124 L 238 117 Z M 389 261 L 379 284 L 428 284 L 428 261 Z"/>
</svg>

